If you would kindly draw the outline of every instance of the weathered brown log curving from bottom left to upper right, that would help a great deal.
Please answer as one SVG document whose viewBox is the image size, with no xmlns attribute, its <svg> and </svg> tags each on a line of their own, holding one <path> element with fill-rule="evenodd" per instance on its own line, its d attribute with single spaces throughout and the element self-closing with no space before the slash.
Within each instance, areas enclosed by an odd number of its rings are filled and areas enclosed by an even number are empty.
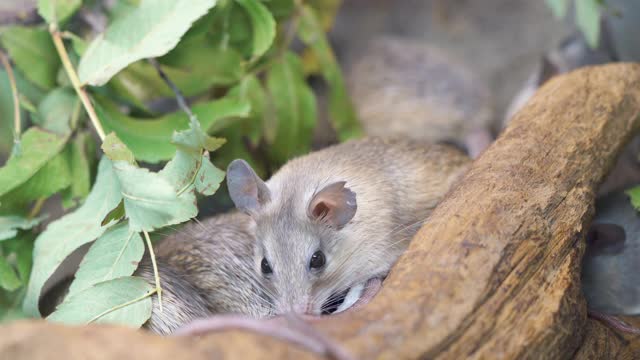
<svg viewBox="0 0 640 360">
<path fill-rule="evenodd" d="M 637 338 L 587 319 L 579 271 L 594 190 L 639 126 L 640 65 L 585 68 L 549 81 L 433 212 L 378 296 L 317 327 L 360 359 L 637 351 Z M 97 352 L 122 341 L 127 354 L 147 359 L 312 357 L 240 331 L 161 339 L 114 327 L 18 323 L 0 330 L 0 358 L 36 359 L 47 336 L 60 339 L 49 343 L 61 358 L 84 341 Z"/>
</svg>

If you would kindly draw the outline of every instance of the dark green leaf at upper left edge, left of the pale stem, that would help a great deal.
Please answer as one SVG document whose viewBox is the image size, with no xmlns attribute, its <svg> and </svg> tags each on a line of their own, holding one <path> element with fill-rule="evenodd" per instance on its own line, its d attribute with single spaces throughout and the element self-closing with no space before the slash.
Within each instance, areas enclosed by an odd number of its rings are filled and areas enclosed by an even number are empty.
<svg viewBox="0 0 640 360">
<path fill-rule="evenodd" d="M 47 31 L 11 26 L 0 33 L 0 42 L 27 79 L 47 90 L 56 85 L 60 59 Z"/>
</svg>

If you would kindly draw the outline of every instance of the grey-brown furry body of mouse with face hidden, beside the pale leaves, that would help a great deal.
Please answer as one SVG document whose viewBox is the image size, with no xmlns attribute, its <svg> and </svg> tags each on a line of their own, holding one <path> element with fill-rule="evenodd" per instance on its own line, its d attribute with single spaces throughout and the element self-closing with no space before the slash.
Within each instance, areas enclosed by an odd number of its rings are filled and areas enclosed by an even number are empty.
<svg viewBox="0 0 640 360">
<path fill-rule="evenodd" d="M 195 319 L 218 314 L 269 317 L 268 289 L 253 271 L 254 227 L 249 216 L 233 211 L 194 220 L 163 239 L 155 247 L 163 311 L 154 296 L 144 328 L 168 335 Z M 155 284 L 148 254 L 134 275 Z"/>
</svg>

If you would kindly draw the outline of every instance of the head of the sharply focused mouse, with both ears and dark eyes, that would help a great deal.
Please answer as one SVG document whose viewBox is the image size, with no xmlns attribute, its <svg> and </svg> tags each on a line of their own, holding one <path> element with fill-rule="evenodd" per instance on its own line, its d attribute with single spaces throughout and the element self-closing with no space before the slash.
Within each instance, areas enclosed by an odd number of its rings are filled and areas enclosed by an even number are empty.
<svg viewBox="0 0 640 360">
<path fill-rule="evenodd" d="M 270 189 L 243 160 L 229 165 L 227 184 L 236 207 L 256 223 L 255 269 L 275 312 L 320 314 L 332 306 L 329 299 L 344 282 L 342 244 L 356 194 L 344 181 L 314 192 Z"/>
</svg>

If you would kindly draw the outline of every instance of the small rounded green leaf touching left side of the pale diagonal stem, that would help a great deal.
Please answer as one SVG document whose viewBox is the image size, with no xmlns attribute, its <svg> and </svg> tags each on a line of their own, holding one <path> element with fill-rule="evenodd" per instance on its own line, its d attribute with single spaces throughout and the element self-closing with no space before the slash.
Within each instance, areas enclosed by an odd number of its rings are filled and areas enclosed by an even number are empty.
<svg viewBox="0 0 640 360">
<path fill-rule="evenodd" d="M 67 135 L 78 97 L 70 89 L 56 88 L 38 105 L 39 121 L 37 122 L 45 130 L 59 135 Z"/>
</svg>

